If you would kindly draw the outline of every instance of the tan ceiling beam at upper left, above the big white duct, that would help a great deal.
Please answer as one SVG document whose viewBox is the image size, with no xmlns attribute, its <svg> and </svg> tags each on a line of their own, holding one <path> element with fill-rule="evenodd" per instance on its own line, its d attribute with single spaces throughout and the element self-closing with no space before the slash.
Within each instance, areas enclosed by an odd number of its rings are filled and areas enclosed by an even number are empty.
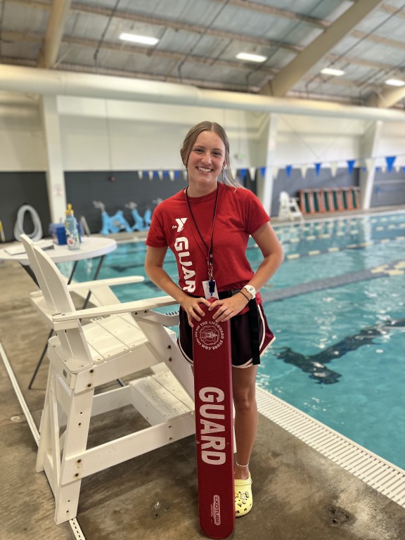
<svg viewBox="0 0 405 540">
<path fill-rule="evenodd" d="M 72 0 L 59 0 L 52 4 L 44 44 L 38 57 L 39 68 L 53 68 L 56 63 L 70 4 Z"/>
</svg>

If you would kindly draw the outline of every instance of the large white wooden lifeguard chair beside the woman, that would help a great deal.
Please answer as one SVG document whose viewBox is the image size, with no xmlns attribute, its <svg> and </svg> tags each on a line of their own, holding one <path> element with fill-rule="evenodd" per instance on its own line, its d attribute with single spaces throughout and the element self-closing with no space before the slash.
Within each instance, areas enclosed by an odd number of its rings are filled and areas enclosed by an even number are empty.
<svg viewBox="0 0 405 540">
<path fill-rule="evenodd" d="M 56 264 L 26 244 L 41 287 L 32 302 L 56 333 L 36 469 L 51 485 L 58 525 L 77 515 L 84 477 L 195 432 L 193 373 L 168 328 L 179 323 L 178 314 L 154 311 L 175 304 L 171 297 L 121 303 L 103 283 L 101 306 L 78 311 Z M 101 388 L 133 373 L 138 378 L 127 385 Z M 88 448 L 91 419 L 129 404 L 148 427 Z"/>
</svg>

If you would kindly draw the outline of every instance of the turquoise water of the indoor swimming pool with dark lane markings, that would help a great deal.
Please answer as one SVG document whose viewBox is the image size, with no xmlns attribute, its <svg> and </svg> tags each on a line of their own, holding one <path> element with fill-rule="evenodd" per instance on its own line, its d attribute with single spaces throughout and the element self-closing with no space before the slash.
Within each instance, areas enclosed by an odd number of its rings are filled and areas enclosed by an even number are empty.
<svg viewBox="0 0 405 540">
<path fill-rule="evenodd" d="M 258 385 L 405 468 L 405 212 L 274 228 L 285 262 L 262 289 L 277 339 Z M 143 242 L 120 243 L 100 277 L 144 276 L 145 251 Z M 253 242 L 248 253 L 255 269 Z M 81 262 L 77 281 L 94 264 Z M 165 268 L 176 276 L 172 255 Z M 122 301 L 162 294 L 148 280 L 115 293 Z"/>
</svg>

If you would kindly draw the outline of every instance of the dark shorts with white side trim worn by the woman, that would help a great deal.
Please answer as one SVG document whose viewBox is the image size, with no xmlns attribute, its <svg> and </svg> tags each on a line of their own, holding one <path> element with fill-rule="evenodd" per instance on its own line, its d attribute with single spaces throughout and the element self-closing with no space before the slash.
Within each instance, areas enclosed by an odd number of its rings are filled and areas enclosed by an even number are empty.
<svg viewBox="0 0 405 540">
<path fill-rule="evenodd" d="M 179 338 L 177 340 L 180 350 L 186 360 L 193 364 L 193 328 L 188 324 L 187 314 L 184 309 L 179 312 Z M 273 333 L 267 325 L 262 304 L 257 306 L 257 318 L 259 326 L 259 352 L 275 340 Z M 196 323 L 197 321 L 195 321 Z M 231 356 L 234 368 L 249 368 L 260 361 L 252 360 L 252 345 L 250 340 L 249 312 L 236 315 L 230 319 L 231 322 Z"/>
</svg>

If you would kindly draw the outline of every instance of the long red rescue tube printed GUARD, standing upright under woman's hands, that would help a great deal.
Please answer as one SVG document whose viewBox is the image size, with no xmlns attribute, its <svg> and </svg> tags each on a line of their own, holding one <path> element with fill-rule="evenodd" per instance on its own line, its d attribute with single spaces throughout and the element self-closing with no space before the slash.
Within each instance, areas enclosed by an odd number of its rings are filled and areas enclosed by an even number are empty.
<svg viewBox="0 0 405 540">
<path fill-rule="evenodd" d="M 212 300 L 213 302 L 214 300 Z M 230 324 L 205 311 L 193 328 L 195 438 L 200 526 L 224 539 L 235 526 Z"/>
</svg>

